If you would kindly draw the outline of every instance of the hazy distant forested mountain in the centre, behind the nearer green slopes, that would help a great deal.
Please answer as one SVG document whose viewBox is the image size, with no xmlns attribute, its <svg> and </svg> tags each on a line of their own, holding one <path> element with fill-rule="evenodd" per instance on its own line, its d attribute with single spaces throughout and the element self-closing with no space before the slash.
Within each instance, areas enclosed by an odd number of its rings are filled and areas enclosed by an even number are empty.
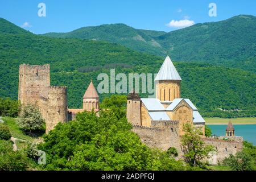
<svg viewBox="0 0 256 182">
<path fill-rule="evenodd" d="M 126 24 L 103 24 L 96 27 L 83 27 L 68 33 L 48 33 L 44 36 L 55 38 L 77 38 L 106 40 L 121 44 L 136 51 L 150 52 L 153 55 L 165 55 L 166 51 L 154 40 L 153 36 L 163 32 L 144 31 L 129 27 Z"/>
</svg>

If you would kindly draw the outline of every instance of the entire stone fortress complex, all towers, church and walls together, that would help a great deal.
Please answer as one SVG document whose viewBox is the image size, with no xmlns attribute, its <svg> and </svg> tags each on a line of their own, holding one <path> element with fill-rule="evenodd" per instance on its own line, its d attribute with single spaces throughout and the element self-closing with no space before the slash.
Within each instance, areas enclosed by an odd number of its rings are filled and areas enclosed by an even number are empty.
<svg viewBox="0 0 256 182">
<path fill-rule="evenodd" d="M 170 57 L 164 60 L 155 82 L 156 98 L 140 98 L 135 92 L 128 94 L 127 121 L 147 146 L 161 150 L 175 147 L 180 157 L 183 155 L 180 144 L 180 137 L 184 134 L 183 124 L 192 123 L 204 133 L 205 121 L 188 98 L 180 98 L 181 78 Z M 59 122 L 75 119 L 79 112 L 94 110 L 98 114 L 100 103 L 91 81 L 83 97 L 83 108 L 69 109 L 67 87 L 50 85 L 49 64 L 20 65 L 18 97 L 22 105 L 39 107 L 46 121 L 46 133 Z M 210 158 L 212 164 L 242 150 L 243 139 L 234 135 L 232 123 L 226 129 L 226 137 L 202 139 L 216 147 L 217 152 L 211 154 Z"/>
</svg>

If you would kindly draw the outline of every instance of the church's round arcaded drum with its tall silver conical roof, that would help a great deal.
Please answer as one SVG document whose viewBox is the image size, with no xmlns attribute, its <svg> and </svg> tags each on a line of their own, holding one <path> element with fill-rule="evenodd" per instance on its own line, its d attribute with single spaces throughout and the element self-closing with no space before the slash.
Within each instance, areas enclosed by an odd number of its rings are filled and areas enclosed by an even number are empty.
<svg viewBox="0 0 256 182">
<path fill-rule="evenodd" d="M 169 56 L 166 57 L 155 77 L 156 98 L 160 101 L 173 101 L 180 98 L 181 78 Z"/>
</svg>

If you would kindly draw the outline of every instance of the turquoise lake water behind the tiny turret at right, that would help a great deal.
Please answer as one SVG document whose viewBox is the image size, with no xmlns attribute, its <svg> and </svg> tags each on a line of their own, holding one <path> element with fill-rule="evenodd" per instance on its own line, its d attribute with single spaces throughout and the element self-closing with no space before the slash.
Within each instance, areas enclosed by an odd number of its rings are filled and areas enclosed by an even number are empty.
<svg viewBox="0 0 256 182">
<path fill-rule="evenodd" d="M 212 134 L 225 136 L 227 125 L 207 125 L 212 129 Z M 233 125 L 235 135 L 243 137 L 243 140 L 253 143 L 256 146 L 256 125 Z"/>
</svg>

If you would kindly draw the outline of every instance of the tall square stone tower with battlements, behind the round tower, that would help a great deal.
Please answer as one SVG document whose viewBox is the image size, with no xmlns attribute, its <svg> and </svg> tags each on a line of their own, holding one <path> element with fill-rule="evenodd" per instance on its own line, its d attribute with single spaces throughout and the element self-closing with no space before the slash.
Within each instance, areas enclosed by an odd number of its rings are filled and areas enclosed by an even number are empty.
<svg viewBox="0 0 256 182">
<path fill-rule="evenodd" d="M 49 64 L 19 65 L 19 101 L 21 104 L 36 104 L 39 92 L 50 85 Z"/>
</svg>

